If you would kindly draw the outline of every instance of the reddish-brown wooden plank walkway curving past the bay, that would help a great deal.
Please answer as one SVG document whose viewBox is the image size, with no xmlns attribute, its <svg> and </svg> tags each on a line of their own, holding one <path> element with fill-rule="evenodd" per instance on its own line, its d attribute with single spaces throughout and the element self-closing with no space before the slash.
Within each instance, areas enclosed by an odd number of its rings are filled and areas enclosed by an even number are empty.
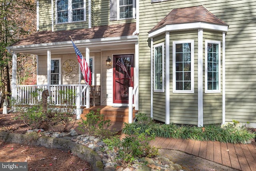
<svg viewBox="0 0 256 171">
<path fill-rule="evenodd" d="M 256 170 L 256 143 L 231 144 L 218 141 L 194 141 L 191 139 L 160 138 L 150 145 L 172 149 L 202 157 L 209 161 L 242 171 Z"/>
</svg>

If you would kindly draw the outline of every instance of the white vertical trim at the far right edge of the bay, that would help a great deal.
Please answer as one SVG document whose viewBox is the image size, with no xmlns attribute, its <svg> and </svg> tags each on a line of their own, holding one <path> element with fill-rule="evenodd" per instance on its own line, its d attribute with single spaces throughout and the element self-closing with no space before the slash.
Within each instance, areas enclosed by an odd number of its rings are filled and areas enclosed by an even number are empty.
<svg viewBox="0 0 256 171">
<path fill-rule="evenodd" d="M 222 32 L 222 124 L 226 122 L 226 33 Z"/>
</svg>

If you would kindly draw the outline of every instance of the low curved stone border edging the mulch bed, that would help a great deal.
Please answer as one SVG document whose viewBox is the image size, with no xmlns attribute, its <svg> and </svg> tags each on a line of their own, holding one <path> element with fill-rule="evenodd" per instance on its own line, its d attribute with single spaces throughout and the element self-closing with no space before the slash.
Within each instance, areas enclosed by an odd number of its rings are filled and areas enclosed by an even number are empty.
<svg viewBox="0 0 256 171">
<path fill-rule="evenodd" d="M 43 146 L 46 148 L 61 149 L 72 152 L 77 155 L 80 159 L 88 162 L 93 171 L 103 171 L 103 162 L 98 153 L 92 149 L 74 143 L 70 140 L 63 138 L 54 137 L 38 137 L 37 139 L 31 139 L 27 134 L 9 133 L 6 131 L 0 131 L 0 141 L 10 142 L 10 143 L 20 143 L 28 145 Z"/>
</svg>

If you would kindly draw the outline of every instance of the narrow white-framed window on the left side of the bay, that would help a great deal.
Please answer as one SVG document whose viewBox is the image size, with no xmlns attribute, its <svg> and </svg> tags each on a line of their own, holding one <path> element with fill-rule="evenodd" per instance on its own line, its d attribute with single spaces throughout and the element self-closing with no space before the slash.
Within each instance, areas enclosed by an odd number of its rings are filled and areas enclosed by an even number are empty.
<svg viewBox="0 0 256 171">
<path fill-rule="evenodd" d="M 154 91 L 164 91 L 164 44 L 154 46 Z"/>
</svg>

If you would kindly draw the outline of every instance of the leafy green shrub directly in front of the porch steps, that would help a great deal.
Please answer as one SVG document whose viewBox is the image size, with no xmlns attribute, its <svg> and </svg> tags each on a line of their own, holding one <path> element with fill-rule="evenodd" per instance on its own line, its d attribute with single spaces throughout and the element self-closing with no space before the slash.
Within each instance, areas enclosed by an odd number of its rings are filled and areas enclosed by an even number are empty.
<svg viewBox="0 0 256 171">
<path fill-rule="evenodd" d="M 108 129 L 110 125 L 110 120 L 104 121 L 104 115 L 100 114 L 100 109 L 97 109 L 96 113 L 90 111 L 86 114 L 86 119 L 82 119 L 82 122 L 79 122 L 79 129 L 86 131 L 88 135 L 107 138 L 114 135 L 114 132 Z"/>
</svg>

